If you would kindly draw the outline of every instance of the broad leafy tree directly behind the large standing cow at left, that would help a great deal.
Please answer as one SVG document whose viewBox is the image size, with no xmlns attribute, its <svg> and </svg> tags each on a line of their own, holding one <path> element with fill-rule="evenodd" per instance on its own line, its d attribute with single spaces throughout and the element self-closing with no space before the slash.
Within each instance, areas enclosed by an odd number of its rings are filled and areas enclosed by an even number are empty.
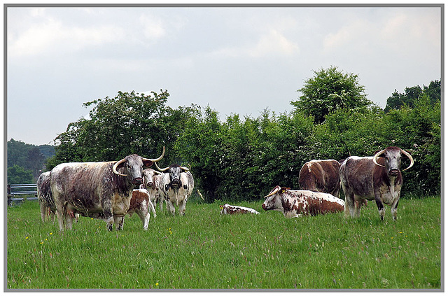
<svg viewBox="0 0 448 296">
<path fill-rule="evenodd" d="M 157 157 L 165 146 L 164 162 L 178 162 L 174 143 L 183 134 L 185 122 L 197 113 L 197 106 L 172 109 L 166 106 L 169 94 L 150 95 L 118 92 L 84 104 L 93 107 L 90 119 L 71 122 L 55 139 L 52 168 L 61 162 L 118 160 L 133 153 Z"/>
</svg>

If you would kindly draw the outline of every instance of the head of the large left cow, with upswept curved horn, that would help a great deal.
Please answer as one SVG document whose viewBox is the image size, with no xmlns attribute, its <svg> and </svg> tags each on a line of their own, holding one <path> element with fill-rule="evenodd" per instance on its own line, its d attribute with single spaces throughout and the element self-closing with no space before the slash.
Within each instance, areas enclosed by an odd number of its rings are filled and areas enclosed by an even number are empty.
<svg viewBox="0 0 448 296">
<path fill-rule="evenodd" d="M 137 154 L 128 155 L 123 160 L 118 160 L 113 164 L 113 172 L 119 176 L 127 177 L 127 180 L 134 185 L 140 185 L 143 181 L 143 168 L 151 167 L 154 162 L 158 162 L 165 155 L 165 147 L 162 155 L 156 159 L 144 158 Z M 118 171 L 120 170 L 120 171 Z"/>
</svg>

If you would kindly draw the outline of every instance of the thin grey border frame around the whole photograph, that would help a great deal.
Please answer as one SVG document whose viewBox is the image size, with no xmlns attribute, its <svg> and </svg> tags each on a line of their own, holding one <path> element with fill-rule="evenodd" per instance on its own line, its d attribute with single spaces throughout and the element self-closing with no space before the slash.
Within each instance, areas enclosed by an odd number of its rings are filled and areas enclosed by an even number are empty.
<svg viewBox="0 0 448 296">
<path fill-rule="evenodd" d="M 3 4 L 3 160 L 4 160 L 4 167 L 3 167 L 3 182 L 6 185 L 8 183 L 7 181 L 7 163 L 8 163 L 8 153 L 7 153 L 7 142 L 8 142 L 8 8 L 375 8 L 375 7 L 391 7 L 391 8 L 423 8 L 423 7 L 433 7 L 433 8 L 440 8 L 440 45 L 441 45 L 441 57 L 440 57 L 440 81 L 441 81 L 441 125 L 442 125 L 442 131 L 444 130 L 444 3 L 409 3 L 409 4 L 402 4 L 402 3 L 391 3 L 391 4 L 377 4 L 377 3 L 346 3 L 346 4 L 312 4 L 312 3 L 255 3 L 255 4 L 248 4 L 248 3 L 241 3 L 241 4 L 235 4 L 235 3 L 148 3 L 148 4 L 137 4 L 137 3 L 130 3 L 130 4 L 124 4 L 124 3 L 111 3 L 111 4 L 100 4 L 100 3 L 83 3 L 83 4 L 77 4 L 77 3 L 71 3 L 71 4 L 63 4 L 63 3 L 20 3 L 20 4 L 13 4 L 13 3 L 4 3 Z M 134 290 L 134 289 L 8 289 L 8 265 L 7 265 L 7 248 L 8 248 L 8 238 L 7 238 L 7 231 L 8 231 L 8 204 L 7 199 L 3 199 L 4 204 L 4 210 L 3 210 L 3 281 L 4 281 L 4 287 L 3 292 L 59 292 L 59 293 L 80 293 L 80 292 L 153 292 L 153 293 L 163 293 L 163 292 L 268 292 L 268 293 L 291 293 L 291 292 L 299 292 L 299 293 L 306 293 L 306 292 L 351 292 L 351 293 L 367 293 L 367 292 L 388 292 L 388 293 L 402 293 L 402 292 L 414 292 L 414 293 L 440 293 L 444 292 L 444 136 L 441 136 L 441 149 L 442 149 L 442 170 L 441 170 L 441 206 L 442 206 L 442 213 L 441 213 L 441 237 L 440 237 L 440 244 L 441 244 L 441 270 L 440 270 L 440 277 L 441 277 L 441 284 L 440 289 L 369 289 L 369 290 L 363 290 L 363 289 L 303 289 L 303 290 L 296 290 L 296 289 L 186 289 L 186 290 L 170 290 L 170 289 L 164 289 L 164 290 L 151 290 L 151 289 L 141 289 L 141 290 Z M 4 197 L 7 195 L 7 188 L 3 188 Z"/>
</svg>

